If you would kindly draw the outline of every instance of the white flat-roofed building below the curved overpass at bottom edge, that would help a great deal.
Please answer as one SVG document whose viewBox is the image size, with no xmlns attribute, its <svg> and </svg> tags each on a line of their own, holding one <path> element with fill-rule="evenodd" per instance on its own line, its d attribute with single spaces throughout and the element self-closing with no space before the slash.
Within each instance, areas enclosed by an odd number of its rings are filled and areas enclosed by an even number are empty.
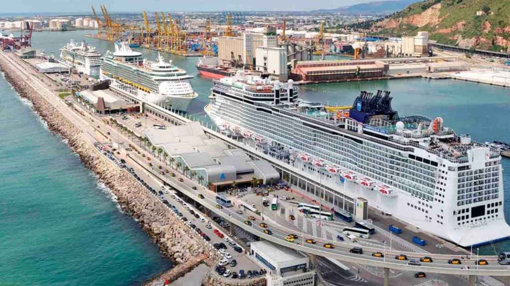
<svg viewBox="0 0 510 286">
<path fill-rule="evenodd" d="M 269 275 L 268 286 L 314 286 L 315 271 L 310 258 L 294 249 L 269 241 L 250 242 L 250 255 Z"/>
</svg>

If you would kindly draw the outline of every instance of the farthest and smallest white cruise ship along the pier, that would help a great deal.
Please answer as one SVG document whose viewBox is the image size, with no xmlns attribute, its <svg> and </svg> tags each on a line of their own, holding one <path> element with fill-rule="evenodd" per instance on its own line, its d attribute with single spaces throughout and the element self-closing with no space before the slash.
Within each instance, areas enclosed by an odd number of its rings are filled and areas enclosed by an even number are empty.
<svg viewBox="0 0 510 286">
<path fill-rule="evenodd" d="M 85 42 L 75 43 L 74 40 L 71 40 L 60 49 L 60 59 L 65 64 L 78 72 L 96 78 L 99 77 L 100 58 L 101 54 L 95 50 L 95 47 L 91 47 Z"/>
</svg>

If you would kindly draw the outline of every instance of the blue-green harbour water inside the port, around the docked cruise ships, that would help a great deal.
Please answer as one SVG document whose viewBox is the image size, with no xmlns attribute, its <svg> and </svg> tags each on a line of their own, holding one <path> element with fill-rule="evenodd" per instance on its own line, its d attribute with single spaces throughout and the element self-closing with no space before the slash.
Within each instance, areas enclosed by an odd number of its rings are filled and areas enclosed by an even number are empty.
<svg viewBox="0 0 510 286">
<path fill-rule="evenodd" d="M 61 45 L 70 38 L 85 39 L 100 52 L 113 50 L 106 41 L 84 38 L 90 31 L 36 33 L 34 47 L 44 49 L 46 54 L 58 55 Z M 140 49 L 148 58 L 154 59 L 155 51 Z M 203 106 L 209 102 L 211 80 L 203 78 L 195 68 L 197 58 L 185 58 L 163 54 L 167 60 L 195 75 L 191 84 L 199 94 L 192 102 L 189 114 L 206 119 Z M 393 108 L 399 115 L 423 115 L 429 118 L 442 117 L 445 125 L 453 127 L 459 134 L 470 134 L 477 141 L 510 141 L 507 122 L 510 120 L 510 89 L 487 84 L 456 80 L 399 79 L 363 82 L 313 84 L 300 86 L 300 97 L 329 104 L 352 105 L 361 90 L 392 92 Z M 505 217 L 510 221 L 510 160 L 503 159 L 505 186 Z M 485 253 L 510 251 L 510 241 L 482 247 Z"/>
</svg>

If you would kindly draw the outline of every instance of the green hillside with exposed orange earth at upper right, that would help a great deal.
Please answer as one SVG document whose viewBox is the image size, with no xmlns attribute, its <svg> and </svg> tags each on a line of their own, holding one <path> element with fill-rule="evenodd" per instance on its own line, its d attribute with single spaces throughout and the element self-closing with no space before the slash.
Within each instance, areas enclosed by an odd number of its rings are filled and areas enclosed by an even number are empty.
<svg viewBox="0 0 510 286">
<path fill-rule="evenodd" d="M 510 51 L 510 4 L 507 0 L 427 0 L 374 24 L 378 34 L 416 35 L 466 48 Z"/>
</svg>

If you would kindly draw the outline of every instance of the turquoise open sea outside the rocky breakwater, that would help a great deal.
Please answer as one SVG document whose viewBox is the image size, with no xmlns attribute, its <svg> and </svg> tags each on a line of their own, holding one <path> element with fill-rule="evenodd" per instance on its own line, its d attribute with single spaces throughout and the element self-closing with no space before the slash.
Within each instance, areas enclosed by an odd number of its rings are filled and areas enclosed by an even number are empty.
<svg viewBox="0 0 510 286">
<path fill-rule="evenodd" d="M 171 267 L 0 77 L 0 285 L 139 285 Z"/>
</svg>

